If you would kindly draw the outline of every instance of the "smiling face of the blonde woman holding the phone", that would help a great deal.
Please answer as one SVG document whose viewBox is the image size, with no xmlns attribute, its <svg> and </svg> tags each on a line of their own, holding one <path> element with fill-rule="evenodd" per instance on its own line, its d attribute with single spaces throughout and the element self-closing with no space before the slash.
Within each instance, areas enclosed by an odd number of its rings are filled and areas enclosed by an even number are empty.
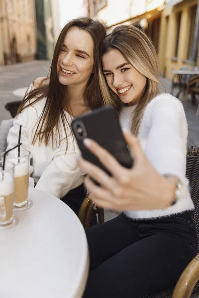
<svg viewBox="0 0 199 298">
<path fill-rule="evenodd" d="M 116 49 L 103 55 L 102 66 L 109 88 L 123 103 L 137 104 L 145 88 L 146 77 Z"/>
</svg>

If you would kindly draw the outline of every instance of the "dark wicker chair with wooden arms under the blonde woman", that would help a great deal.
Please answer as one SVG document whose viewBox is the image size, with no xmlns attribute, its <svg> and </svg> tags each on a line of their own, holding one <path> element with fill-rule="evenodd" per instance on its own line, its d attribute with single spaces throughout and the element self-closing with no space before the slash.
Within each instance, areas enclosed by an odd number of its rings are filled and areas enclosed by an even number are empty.
<svg viewBox="0 0 199 298">
<path fill-rule="evenodd" d="M 191 198 L 194 202 L 194 220 L 199 238 L 199 147 L 191 146 L 187 149 L 186 177 L 190 183 Z M 90 226 L 91 211 L 94 203 L 85 197 L 79 218 L 85 227 Z M 185 268 L 176 287 L 154 293 L 147 298 L 199 298 L 199 243 L 198 255 Z M 195 286 L 196 285 L 196 286 Z M 194 289 L 194 290 L 193 290 Z M 173 293 L 173 296 L 172 296 Z"/>
</svg>

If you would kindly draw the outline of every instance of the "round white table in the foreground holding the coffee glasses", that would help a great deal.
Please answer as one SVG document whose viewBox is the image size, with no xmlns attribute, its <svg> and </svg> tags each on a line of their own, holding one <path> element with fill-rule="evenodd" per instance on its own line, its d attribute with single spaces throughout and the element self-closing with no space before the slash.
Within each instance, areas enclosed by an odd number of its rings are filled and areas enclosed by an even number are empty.
<svg viewBox="0 0 199 298">
<path fill-rule="evenodd" d="M 33 206 L 0 231 L 0 298 L 81 298 L 88 246 L 75 213 L 59 199 L 29 188 Z"/>
</svg>

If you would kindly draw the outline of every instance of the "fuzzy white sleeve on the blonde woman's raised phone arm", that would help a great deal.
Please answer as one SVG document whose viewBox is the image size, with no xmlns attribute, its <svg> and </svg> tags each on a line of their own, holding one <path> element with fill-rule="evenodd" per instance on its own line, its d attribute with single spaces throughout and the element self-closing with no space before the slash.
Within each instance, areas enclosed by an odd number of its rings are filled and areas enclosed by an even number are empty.
<svg viewBox="0 0 199 298">
<path fill-rule="evenodd" d="M 145 154 L 161 174 L 174 174 L 185 183 L 187 121 L 181 102 L 171 95 L 151 106 L 151 127 Z"/>
</svg>

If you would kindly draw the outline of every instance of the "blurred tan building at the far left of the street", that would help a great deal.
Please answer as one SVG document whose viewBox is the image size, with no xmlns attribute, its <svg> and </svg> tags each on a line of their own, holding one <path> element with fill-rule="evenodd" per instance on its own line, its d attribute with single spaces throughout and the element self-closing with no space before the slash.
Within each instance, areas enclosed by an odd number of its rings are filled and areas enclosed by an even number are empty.
<svg viewBox="0 0 199 298">
<path fill-rule="evenodd" d="M 33 60 L 35 35 L 34 0 L 0 0 L 0 63 Z"/>
</svg>

